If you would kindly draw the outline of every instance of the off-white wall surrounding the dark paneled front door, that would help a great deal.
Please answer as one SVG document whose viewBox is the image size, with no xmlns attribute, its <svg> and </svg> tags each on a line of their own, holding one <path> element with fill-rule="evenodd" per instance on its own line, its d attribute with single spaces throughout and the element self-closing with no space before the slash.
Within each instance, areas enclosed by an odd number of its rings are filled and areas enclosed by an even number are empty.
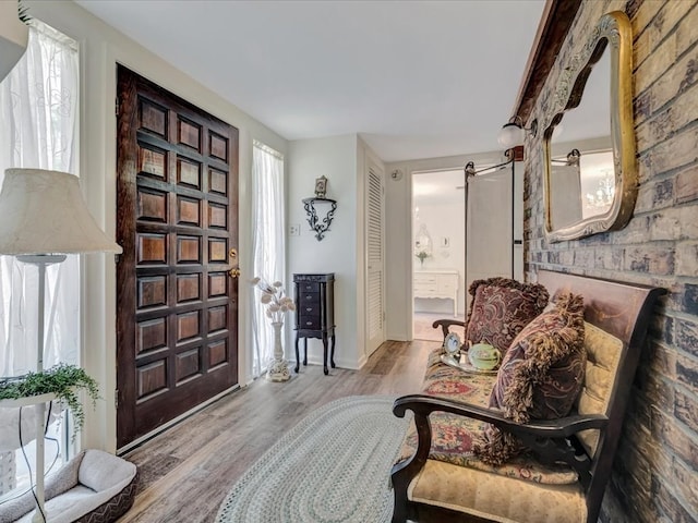
<svg viewBox="0 0 698 523">
<path fill-rule="evenodd" d="M 77 4 L 65 1 L 27 1 L 32 16 L 46 22 L 80 42 L 81 119 L 80 175 L 91 211 L 107 234 L 116 226 L 116 64 L 139 74 L 201 107 L 240 131 L 239 252 L 240 279 L 238 337 L 240 382 L 245 384 L 250 345 L 249 304 L 251 278 L 250 175 L 252 141 L 260 139 L 286 154 L 287 142 L 225 101 L 205 86 L 186 76 L 147 49 L 106 25 Z M 312 187 L 311 187 L 312 191 Z M 97 410 L 86 409 L 83 447 L 116 449 L 116 270 L 111 256 L 84 257 L 82 362 L 100 384 L 105 400 Z"/>
</svg>

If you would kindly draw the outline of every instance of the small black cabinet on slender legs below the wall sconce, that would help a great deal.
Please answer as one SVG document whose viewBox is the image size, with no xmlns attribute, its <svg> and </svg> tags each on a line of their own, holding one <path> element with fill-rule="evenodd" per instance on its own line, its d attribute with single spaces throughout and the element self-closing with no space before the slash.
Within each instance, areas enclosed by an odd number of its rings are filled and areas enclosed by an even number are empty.
<svg viewBox="0 0 698 523">
<path fill-rule="evenodd" d="M 308 338 L 323 340 L 323 370 L 327 369 L 327 344 L 332 339 L 329 364 L 335 368 L 335 275 L 293 275 L 296 285 L 296 372 L 300 367 L 298 342 L 303 338 L 303 365 L 308 365 Z"/>
</svg>

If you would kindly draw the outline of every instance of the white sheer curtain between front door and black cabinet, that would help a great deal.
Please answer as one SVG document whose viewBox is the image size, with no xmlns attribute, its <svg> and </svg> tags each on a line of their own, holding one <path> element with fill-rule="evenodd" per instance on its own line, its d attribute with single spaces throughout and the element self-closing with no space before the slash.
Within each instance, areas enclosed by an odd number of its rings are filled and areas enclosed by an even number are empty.
<svg viewBox="0 0 698 523">
<path fill-rule="evenodd" d="M 254 142 L 252 154 L 252 194 L 254 276 L 265 278 L 270 283 L 284 281 L 284 157 L 257 141 Z M 285 287 L 289 291 L 288 284 Z M 260 303 L 256 289 L 252 300 L 252 375 L 257 377 L 266 369 L 274 354 L 274 329 Z"/>
</svg>

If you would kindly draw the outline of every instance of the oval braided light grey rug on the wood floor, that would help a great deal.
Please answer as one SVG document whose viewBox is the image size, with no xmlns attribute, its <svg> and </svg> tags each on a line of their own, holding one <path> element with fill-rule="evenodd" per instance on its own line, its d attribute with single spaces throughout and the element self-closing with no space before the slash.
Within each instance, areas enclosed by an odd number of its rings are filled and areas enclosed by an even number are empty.
<svg viewBox="0 0 698 523">
<path fill-rule="evenodd" d="M 356 396 L 312 412 L 242 475 L 216 522 L 389 521 L 390 467 L 409 423 L 393 401 Z"/>
</svg>

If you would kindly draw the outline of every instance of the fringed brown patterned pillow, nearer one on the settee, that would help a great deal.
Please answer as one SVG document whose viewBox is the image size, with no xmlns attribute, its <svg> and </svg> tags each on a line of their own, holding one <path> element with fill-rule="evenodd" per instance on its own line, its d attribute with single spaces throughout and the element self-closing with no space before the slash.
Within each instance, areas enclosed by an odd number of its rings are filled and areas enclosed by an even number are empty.
<svg viewBox="0 0 698 523">
<path fill-rule="evenodd" d="M 516 337 L 504 356 L 490 396 L 517 423 L 555 419 L 569 414 L 581 390 L 587 354 L 583 348 L 583 301 L 561 294 L 555 307 L 541 314 Z M 483 461 L 504 463 L 522 449 L 518 439 L 494 426 L 474 451 Z"/>
</svg>

